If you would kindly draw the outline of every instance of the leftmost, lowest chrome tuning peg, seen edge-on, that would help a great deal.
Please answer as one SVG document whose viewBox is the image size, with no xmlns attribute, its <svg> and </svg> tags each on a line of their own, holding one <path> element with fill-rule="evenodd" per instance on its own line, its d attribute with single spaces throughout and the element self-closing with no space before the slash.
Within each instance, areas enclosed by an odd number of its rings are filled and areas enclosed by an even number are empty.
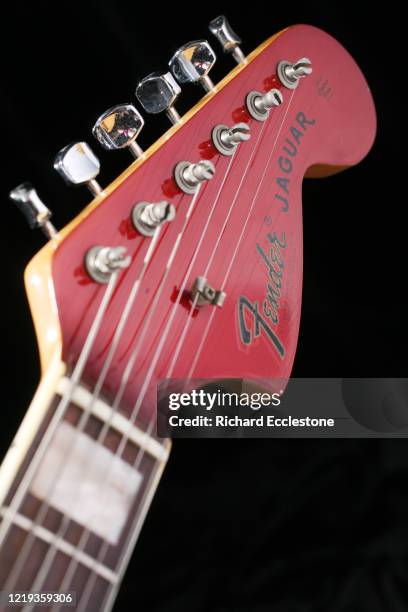
<svg viewBox="0 0 408 612">
<path fill-rule="evenodd" d="M 9 197 L 21 210 L 31 229 L 40 227 L 47 238 L 57 235 L 57 230 L 50 222 L 52 213 L 40 200 L 31 183 L 21 183 L 10 191 Z"/>
</svg>

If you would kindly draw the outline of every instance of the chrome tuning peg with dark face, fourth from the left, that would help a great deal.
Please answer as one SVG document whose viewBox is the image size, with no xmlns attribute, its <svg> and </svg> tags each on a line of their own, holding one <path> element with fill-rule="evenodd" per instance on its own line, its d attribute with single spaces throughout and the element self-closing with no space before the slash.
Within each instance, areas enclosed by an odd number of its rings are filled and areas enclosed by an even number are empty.
<svg viewBox="0 0 408 612">
<path fill-rule="evenodd" d="M 173 106 L 180 92 L 180 85 L 171 72 L 152 72 L 136 87 L 136 97 L 144 110 L 153 115 L 166 111 L 172 123 L 180 121 Z"/>
</svg>

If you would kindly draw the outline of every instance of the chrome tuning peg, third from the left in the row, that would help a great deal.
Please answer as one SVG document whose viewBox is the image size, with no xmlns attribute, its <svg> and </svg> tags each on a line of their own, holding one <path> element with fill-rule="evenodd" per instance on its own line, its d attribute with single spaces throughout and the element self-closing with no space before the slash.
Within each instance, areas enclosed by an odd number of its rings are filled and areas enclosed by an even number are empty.
<svg viewBox="0 0 408 612">
<path fill-rule="evenodd" d="M 143 155 L 143 150 L 136 138 L 143 126 L 144 119 L 132 104 L 118 104 L 99 117 L 92 134 L 105 149 L 128 147 L 138 158 Z"/>
</svg>

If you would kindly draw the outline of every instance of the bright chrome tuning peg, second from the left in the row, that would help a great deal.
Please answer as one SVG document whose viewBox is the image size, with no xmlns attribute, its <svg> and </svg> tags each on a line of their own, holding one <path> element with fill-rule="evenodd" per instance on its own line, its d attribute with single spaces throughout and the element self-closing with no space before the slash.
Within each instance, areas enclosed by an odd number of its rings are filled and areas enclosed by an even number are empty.
<svg viewBox="0 0 408 612">
<path fill-rule="evenodd" d="M 85 184 L 95 196 L 103 193 L 101 186 L 95 180 L 100 167 L 99 159 L 86 142 L 76 142 L 64 147 L 54 160 L 55 170 L 66 183 Z"/>
</svg>

